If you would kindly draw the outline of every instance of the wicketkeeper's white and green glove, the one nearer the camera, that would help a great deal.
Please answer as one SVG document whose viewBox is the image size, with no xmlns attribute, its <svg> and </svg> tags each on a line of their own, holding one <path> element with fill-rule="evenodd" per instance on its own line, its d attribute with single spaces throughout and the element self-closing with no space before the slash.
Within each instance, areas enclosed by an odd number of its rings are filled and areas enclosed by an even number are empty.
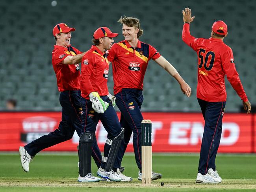
<svg viewBox="0 0 256 192">
<path fill-rule="evenodd" d="M 91 92 L 89 97 L 94 111 L 104 113 L 107 110 L 109 103 L 104 102 L 97 92 Z"/>
</svg>

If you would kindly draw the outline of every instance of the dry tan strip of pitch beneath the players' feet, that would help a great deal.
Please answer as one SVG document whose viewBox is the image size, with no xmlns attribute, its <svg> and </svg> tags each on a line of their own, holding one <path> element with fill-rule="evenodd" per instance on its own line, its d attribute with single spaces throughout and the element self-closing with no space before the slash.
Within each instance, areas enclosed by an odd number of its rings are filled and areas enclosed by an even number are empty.
<svg viewBox="0 0 256 192">
<path fill-rule="evenodd" d="M 164 185 L 161 186 L 161 182 Z M 104 188 L 143 188 L 139 181 L 79 183 L 74 178 L 1 178 L 0 186 L 12 187 L 104 187 Z M 150 188 L 218 188 L 218 189 L 256 189 L 256 180 L 225 179 L 219 184 L 198 184 L 193 179 L 160 179 L 152 182 Z"/>
</svg>

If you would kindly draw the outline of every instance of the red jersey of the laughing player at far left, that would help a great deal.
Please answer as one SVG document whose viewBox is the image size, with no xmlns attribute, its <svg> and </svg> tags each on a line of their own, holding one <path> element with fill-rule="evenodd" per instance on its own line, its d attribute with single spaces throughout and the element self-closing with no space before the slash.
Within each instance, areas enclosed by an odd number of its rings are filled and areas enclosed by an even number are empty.
<svg viewBox="0 0 256 192">
<path fill-rule="evenodd" d="M 68 55 L 82 54 L 78 49 L 69 46 L 68 48 L 54 45 L 52 51 L 52 66 L 57 78 L 59 91 L 80 90 L 80 67 L 76 65 L 66 65 L 62 62 Z"/>
</svg>

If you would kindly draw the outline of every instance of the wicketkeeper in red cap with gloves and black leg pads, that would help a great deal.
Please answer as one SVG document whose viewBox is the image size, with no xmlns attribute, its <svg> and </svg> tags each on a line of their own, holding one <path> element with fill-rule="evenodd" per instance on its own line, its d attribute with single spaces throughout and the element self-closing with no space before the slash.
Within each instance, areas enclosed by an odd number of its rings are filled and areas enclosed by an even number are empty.
<svg viewBox="0 0 256 192">
<path fill-rule="evenodd" d="M 108 132 L 104 146 L 102 164 L 97 175 L 107 181 L 121 181 L 131 177 L 121 178 L 113 172 L 120 144 L 124 138 L 124 129 L 121 128 L 115 106 L 115 97 L 108 92 L 109 63 L 106 50 L 113 45 L 113 37 L 118 33 L 112 33 L 107 27 L 98 28 L 93 34 L 93 43 L 82 58 L 81 92 L 83 134 L 79 141 L 79 177 L 81 182 L 95 182 L 100 178 L 91 179 L 91 146 L 95 142 L 95 131 L 99 120 Z M 109 106 L 110 105 L 110 106 Z"/>
</svg>

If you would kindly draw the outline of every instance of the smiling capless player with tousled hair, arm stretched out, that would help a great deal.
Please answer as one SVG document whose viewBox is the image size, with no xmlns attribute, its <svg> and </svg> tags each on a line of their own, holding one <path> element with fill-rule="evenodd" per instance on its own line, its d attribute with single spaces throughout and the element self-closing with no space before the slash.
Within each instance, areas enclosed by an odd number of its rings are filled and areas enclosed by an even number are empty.
<svg viewBox="0 0 256 192">
<path fill-rule="evenodd" d="M 148 61 L 153 59 L 164 68 L 180 84 L 181 90 L 188 97 L 191 88 L 178 74 L 177 70 L 150 44 L 139 41 L 143 34 L 139 19 L 121 17 L 122 35 L 125 40 L 113 45 L 109 51 L 108 60 L 112 63 L 114 94 L 117 107 L 121 111 L 121 127 L 124 127 L 124 140 L 121 144 L 114 171 L 119 172 L 124 152 L 132 133 L 134 154 L 139 168 L 138 179 L 141 180 L 141 105 L 143 102 L 143 79 Z M 160 179 L 161 174 L 152 172 L 152 180 Z"/>
</svg>

